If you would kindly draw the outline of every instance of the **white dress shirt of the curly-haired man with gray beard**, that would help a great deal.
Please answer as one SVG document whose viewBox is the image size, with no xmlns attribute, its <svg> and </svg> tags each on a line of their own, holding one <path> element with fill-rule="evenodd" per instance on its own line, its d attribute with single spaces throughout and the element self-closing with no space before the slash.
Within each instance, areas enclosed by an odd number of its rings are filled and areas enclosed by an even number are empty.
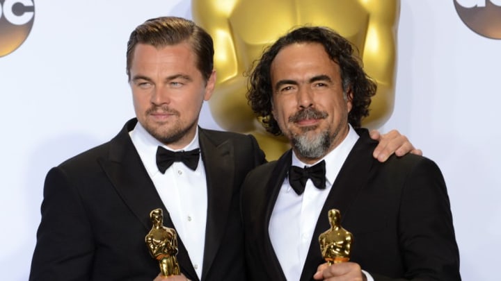
<svg viewBox="0 0 501 281">
<path fill-rule="evenodd" d="M 349 126 L 347 137 L 321 159 L 326 162 L 326 189 L 317 189 L 313 182 L 308 180 L 304 193 L 298 195 L 289 185 L 288 177 L 280 187 L 268 230 L 271 244 L 288 281 L 301 278 L 317 220 L 319 216 L 325 216 L 324 219 L 327 219 L 327 214 L 320 214 L 321 209 L 357 139 L 357 133 Z M 301 162 L 295 153 L 292 153 L 292 165 L 301 168 L 312 166 Z"/>
</svg>

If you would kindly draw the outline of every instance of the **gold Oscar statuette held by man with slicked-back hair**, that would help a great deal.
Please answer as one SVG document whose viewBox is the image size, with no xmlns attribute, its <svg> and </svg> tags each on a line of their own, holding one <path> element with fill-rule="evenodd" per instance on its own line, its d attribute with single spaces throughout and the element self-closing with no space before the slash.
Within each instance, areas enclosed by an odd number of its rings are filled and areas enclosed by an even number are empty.
<svg viewBox="0 0 501 281">
<path fill-rule="evenodd" d="M 152 257 L 160 264 L 160 273 L 164 276 L 180 275 L 180 267 L 177 263 L 177 238 L 173 228 L 164 226 L 164 215 L 161 209 L 150 212 L 152 229 L 145 237 L 146 246 Z"/>
</svg>

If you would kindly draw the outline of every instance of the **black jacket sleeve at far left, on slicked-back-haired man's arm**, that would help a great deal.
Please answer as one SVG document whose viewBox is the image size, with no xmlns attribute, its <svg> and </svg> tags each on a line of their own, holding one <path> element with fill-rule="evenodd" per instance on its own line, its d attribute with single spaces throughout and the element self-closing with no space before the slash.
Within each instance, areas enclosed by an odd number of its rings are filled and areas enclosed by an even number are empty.
<svg viewBox="0 0 501 281">
<path fill-rule="evenodd" d="M 78 191 L 61 168 L 47 173 L 29 280 L 89 280 L 94 241 Z"/>
</svg>

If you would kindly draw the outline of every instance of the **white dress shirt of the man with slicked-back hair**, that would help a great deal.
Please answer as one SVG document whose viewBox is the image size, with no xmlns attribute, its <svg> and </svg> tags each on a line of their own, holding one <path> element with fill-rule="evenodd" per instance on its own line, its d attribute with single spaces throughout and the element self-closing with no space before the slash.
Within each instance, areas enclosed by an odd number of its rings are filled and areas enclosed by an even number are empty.
<svg viewBox="0 0 501 281">
<path fill-rule="evenodd" d="M 182 239 L 193 268 L 201 279 L 207 221 L 207 181 L 202 157 L 200 155 L 195 171 L 182 162 L 174 162 L 162 174 L 157 167 L 157 147 L 162 146 L 170 151 L 173 149 L 152 137 L 139 122 L 129 135 L 175 225 L 177 239 Z M 191 143 L 177 151 L 191 151 L 195 148 L 200 148 L 198 128 Z"/>
</svg>

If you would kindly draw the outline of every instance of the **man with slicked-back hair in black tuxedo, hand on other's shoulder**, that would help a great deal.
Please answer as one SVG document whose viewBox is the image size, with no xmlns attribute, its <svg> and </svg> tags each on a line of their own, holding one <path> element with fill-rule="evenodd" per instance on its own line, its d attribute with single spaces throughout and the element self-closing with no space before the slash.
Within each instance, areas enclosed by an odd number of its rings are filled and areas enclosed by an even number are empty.
<svg viewBox="0 0 501 281">
<path fill-rule="evenodd" d="M 212 38 L 186 19 L 150 19 L 131 33 L 136 118 L 47 174 L 30 280 L 161 280 L 145 244 L 157 208 L 177 232 L 185 275 L 170 280 L 246 279 L 240 187 L 265 159 L 251 135 L 197 126 L 213 58 Z M 399 146 L 413 149 L 393 134 L 382 151 Z"/>
</svg>

